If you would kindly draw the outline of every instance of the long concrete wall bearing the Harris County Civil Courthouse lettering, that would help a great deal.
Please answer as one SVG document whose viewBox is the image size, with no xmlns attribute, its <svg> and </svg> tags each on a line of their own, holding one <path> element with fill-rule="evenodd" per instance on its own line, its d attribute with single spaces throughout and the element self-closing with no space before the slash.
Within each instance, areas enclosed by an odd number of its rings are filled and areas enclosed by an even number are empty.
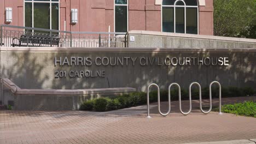
<svg viewBox="0 0 256 144">
<path fill-rule="evenodd" d="M 147 65 L 139 60 L 135 65 L 54 66 L 55 57 L 229 57 L 229 66 L 218 65 Z M 217 80 L 222 86 L 256 88 L 256 49 L 103 49 L 103 48 L 11 48 L 1 47 L 1 77 L 8 78 L 20 88 L 82 89 L 132 87 L 146 91 L 158 83 L 163 89 L 172 82 L 188 88 L 197 81 L 202 87 Z M 105 77 L 55 78 L 56 70 L 105 70 Z"/>
</svg>

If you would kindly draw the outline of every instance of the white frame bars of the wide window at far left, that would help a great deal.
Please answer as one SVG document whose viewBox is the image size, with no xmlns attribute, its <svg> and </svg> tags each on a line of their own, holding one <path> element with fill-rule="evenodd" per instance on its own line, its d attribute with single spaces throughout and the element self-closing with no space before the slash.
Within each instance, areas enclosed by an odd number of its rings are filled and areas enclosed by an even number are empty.
<svg viewBox="0 0 256 144">
<path fill-rule="evenodd" d="M 23 25 L 24 25 L 24 27 L 25 27 L 25 3 L 32 3 L 32 27 L 34 27 L 34 3 L 50 3 L 50 29 L 51 29 L 51 4 L 58 3 L 59 4 L 59 29 L 57 29 L 57 30 L 60 31 L 60 1 L 54 2 L 51 0 L 50 1 L 26 1 L 26 0 L 24 0 L 23 2 L 24 2 L 23 3 L 24 4 L 24 7 L 23 7 L 23 17 L 24 17 Z M 34 32 L 34 30 L 32 32 Z"/>
</svg>

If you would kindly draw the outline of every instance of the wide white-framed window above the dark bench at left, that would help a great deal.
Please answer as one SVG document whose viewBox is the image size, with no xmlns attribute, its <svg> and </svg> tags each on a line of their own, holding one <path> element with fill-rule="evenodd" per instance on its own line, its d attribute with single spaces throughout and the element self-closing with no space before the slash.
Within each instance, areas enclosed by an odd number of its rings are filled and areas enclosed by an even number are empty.
<svg viewBox="0 0 256 144">
<path fill-rule="evenodd" d="M 59 30 L 59 0 L 25 0 L 25 27 Z"/>
</svg>

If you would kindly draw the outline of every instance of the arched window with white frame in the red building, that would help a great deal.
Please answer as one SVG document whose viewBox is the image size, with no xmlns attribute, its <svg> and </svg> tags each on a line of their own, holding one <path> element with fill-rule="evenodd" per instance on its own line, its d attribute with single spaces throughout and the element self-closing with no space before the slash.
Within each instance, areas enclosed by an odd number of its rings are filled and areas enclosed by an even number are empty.
<svg viewBox="0 0 256 144">
<path fill-rule="evenodd" d="M 197 34 L 197 0 L 162 0 L 162 32 Z"/>
</svg>

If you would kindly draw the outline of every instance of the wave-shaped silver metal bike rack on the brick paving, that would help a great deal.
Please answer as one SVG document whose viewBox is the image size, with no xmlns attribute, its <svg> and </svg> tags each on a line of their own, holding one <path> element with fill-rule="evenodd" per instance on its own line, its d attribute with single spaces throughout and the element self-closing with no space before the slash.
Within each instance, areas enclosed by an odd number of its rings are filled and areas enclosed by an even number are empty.
<svg viewBox="0 0 256 144">
<path fill-rule="evenodd" d="M 179 97 L 179 111 L 183 114 L 183 115 L 185 115 L 185 116 L 187 116 L 190 112 L 191 112 L 191 110 L 192 110 L 192 103 L 191 103 L 191 87 L 193 86 L 193 85 L 197 85 L 197 87 L 199 88 L 199 101 L 200 101 L 200 110 L 201 110 L 201 112 L 202 113 L 205 113 L 205 114 L 207 114 L 207 113 L 210 113 L 211 111 L 212 111 L 212 85 L 214 84 L 214 83 L 217 83 L 217 85 L 219 86 L 219 115 L 222 115 L 223 113 L 222 113 L 222 87 L 221 87 L 221 85 L 220 85 L 220 83 L 218 82 L 218 81 L 213 81 L 213 82 L 211 82 L 210 83 L 210 85 L 209 85 L 209 100 L 210 100 L 210 109 L 208 110 L 208 111 L 204 111 L 203 109 L 202 109 L 202 92 L 201 92 L 201 85 L 198 83 L 198 82 L 192 82 L 192 83 L 190 83 L 190 85 L 189 85 L 189 110 L 188 110 L 188 112 L 183 112 L 182 111 L 182 100 L 181 100 L 181 86 L 179 86 L 179 84 L 178 83 L 171 83 L 171 85 L 169 85 L 169 87 L 168 87 L 168 111 L 166 112 L 166 113 L 162 113 L 161 112 L 161 109 L 160 109 L 160 88 L 159 88 L 159 86 L 158 85 L 156 85 L 156 83 L 152 83 L 152 84 L 150 84 L 149 86 L 148 86 L 148 91 L 147 91 L 147 111 L 148 111 L 148 113 L 147 113 L 147 118 L 151 118 L 150 117 L 150 112 L 149 112 L 149 88 L 151 87 L 151 86 L 155 86 L 156 88 L 158 88 L 158 111 L 159 111 L 159 113 L 160 113 L 160 115 L 162 115 L 162 116 L 167 116 L 168 114 L 170 114 L 170 112 L 171 112 L 171 87 L 172 86 L 177 86 L 178 87 L 178 97 Z"/>
</svg>

